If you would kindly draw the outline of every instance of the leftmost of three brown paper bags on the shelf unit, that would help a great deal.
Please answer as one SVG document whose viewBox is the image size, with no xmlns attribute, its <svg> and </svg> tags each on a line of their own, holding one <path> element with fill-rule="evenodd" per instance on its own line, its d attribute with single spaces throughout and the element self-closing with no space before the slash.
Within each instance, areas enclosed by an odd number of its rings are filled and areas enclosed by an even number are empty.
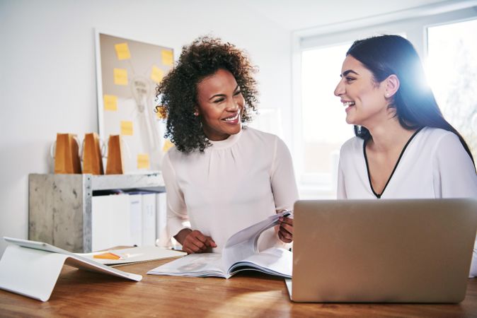
<svg viewBox="0 0 477 318">
<path fill-rule="evenodd" d="M 54 173 L 81 173 L 79 145 L 74 134 L 57 134 Z"/>
</svg>

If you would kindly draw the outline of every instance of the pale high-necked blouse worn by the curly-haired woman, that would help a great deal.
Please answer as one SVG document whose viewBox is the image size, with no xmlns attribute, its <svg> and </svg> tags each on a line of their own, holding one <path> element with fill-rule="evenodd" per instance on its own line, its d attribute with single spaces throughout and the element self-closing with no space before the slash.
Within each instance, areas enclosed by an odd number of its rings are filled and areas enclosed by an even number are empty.
<svg viewBox="0 0 477 318">
<path fill-rule="evenodd" d="M 190 220 L 193 230 L 212 237 L 221 252 L 238 230 L 257 223 L 298 199 L 292 157 L 277 136 L 244 127 L 204 153 L 171 148 L 163 160 L 168 229 L 173 236 Z M 260 235 L 260 250 L 285 247 L 272 228 Z"/>
</svg>

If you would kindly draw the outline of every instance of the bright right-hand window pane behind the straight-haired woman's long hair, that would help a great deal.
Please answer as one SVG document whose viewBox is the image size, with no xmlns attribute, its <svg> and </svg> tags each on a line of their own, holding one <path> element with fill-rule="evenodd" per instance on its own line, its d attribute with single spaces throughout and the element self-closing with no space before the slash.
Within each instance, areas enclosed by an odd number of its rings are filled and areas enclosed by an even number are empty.
<svg viewBox="0 0 477 318">
<path fill-rule="evenodd" d="M 442 114 L 477 159 L 477 20 L 427 28 L 427 79 Z"/>
</svg>

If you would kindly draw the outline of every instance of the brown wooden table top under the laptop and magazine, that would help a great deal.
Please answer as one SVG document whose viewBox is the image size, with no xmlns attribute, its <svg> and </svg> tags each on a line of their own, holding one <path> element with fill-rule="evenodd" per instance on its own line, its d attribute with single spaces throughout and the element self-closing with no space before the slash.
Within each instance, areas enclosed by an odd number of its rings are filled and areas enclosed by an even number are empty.
<svg viewBox="0 0 477 318">
<path fill-rule="evenodd" d="M 164 263 L 119 267 L 142 274 L 140 282 L 64 266 L 47 302 L 0 290 L 0 317 L 477 317 L 477 278 L 457 305 L 295 303 L 282 279 L 260 273 L 229 280 L 146 275 Z"/>
</svg>

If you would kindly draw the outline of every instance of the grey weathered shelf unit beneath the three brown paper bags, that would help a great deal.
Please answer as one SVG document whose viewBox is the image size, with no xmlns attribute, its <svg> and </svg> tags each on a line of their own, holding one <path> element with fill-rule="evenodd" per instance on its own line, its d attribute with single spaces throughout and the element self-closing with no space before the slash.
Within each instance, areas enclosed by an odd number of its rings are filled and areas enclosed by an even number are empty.
<svg viewBox="0 0 477 318">
<path fill-rule="evenodd" d="M 165 192 L 161 172 L 142 175 L 28 175 L 28 239 L 69 252 L 91 252 L 93 191 Z"/>
</svg>

